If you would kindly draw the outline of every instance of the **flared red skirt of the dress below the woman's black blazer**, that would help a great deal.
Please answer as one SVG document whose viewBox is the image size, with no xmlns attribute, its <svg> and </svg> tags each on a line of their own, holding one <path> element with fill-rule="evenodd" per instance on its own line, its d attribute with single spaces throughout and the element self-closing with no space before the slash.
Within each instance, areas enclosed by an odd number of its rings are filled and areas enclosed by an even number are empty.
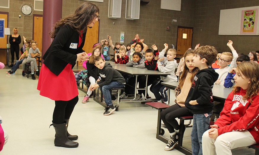
<svg viewBox="0 0 259 155">
<path fill-rule="evenodd" d="M 37 87 L 37 89 L 40 90 L 40 95 L 55 101 L 69 101 L 76 97 L 78 95 L 78 89 L 75 75 L 71 68 L 72 65 L 67 64 L 63 71 L 57 76 L 43 63 Z"/>
</svg>

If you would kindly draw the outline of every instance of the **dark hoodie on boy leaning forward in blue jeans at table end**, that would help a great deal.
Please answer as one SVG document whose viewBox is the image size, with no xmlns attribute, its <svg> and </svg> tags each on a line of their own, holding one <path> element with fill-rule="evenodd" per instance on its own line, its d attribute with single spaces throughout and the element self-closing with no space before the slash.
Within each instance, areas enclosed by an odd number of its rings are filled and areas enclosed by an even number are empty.
<svg viewBox="0 0 259 155">
<path fill-rule="evenodd" d="M 101 80 L 97 82 L 99 87 L 108 85 L 112 81 L 117 81 L 122 84 L 126 83 L 124 77 L 117 70 L 112 68 L 112 65 L 108 62 L 104 64 L 104 67 L 102 69 L 98 68 L 98 73 L 101 76 Z"/>
</svg>

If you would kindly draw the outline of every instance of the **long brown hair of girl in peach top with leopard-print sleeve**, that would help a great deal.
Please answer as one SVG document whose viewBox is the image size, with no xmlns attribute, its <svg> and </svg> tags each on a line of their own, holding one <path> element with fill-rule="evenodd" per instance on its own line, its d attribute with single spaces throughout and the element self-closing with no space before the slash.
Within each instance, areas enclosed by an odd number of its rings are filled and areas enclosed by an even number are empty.
<svg viewBox="0 0 259 155">
<path fill-rule="evenodd" d="M 182 73 L 182 75 L 180 76 L 180 79 L 179 79 L 180 88 L 183 87 L 184 81 L 185 81 L 186 76 L 187 76 L 187 73 L 189 72 L 189 68 L 188 68 L 188 67 L 186 66 L 186 64 L 185 64 L 185 58 L 186 58 L 186 56 L 189 56 L 190 54 L 192 54 L 193 56 L 195 56 L 194 50 L 192 50 L 192 49 L 186 50 L 186 52 L 184 53 L 184 70 L 183 70 L 183 73 Z M 191 76 L 191 78 L 190 78 L 191 82 L 192 82 L 192 80 L 194 79 L 194 76 L 195 76 L 195 74 L 197 73 L 198 70 L 199 70 L 198 67 L 193 68 L 193 70 L 192 70 L 192 76 Z"/>
</svg>

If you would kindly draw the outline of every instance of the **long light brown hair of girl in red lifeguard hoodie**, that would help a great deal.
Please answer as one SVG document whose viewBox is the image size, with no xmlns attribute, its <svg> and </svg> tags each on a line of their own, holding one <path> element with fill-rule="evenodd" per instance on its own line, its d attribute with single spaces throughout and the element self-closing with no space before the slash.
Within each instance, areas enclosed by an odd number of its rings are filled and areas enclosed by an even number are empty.
<svg viewBox="0 0 259 155">
<path fill-rule="evenodd" d="M 255 62 L 242 62 L 237 65 L 237 70 L 250 79 L 250 84 L 246 89 L 244 100 L 250 99 L 252 102 L 252 97 L 258 95 L 259 92 L 259 65 Z M 233 94 L 238 92 L 240 88 L 241 87 L 234 86 Z"/>
</svg>

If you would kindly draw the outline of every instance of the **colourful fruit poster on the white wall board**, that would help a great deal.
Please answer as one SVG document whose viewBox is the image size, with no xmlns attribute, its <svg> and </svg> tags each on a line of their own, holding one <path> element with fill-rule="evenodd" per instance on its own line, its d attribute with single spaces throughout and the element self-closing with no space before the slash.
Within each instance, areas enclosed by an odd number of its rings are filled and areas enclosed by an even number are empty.
<svg viewBox="0 0 259 155">
<path fill-rule="evenodd" d="M 242 10 L 240 35 L 256 35 L 258 9 Z"/>
</svg>

